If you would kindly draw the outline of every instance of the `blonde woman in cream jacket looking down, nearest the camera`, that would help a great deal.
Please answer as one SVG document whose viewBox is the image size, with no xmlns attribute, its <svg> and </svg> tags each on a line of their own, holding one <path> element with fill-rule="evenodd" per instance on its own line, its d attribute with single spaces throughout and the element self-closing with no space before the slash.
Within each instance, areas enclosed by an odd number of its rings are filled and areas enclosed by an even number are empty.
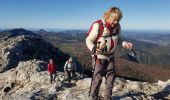
<svg viewBox="0 0 170 100">
<path fill-rule="evenodd" d="M 104 13 L 101 20 L 95 21 L 87 33 L 86 45 L 91 52 L 94 52 L 96 44 L 95 57 L 93 56 L 93 77 L 90 87 L 90 98 L 98 99 L 99 88 L 102 83 L 102 77 L 105 76 L 105 96 L 104 100 L 111 100 L 112 88 L 115 79 L 114 53 L 117 44 L 124 48 L 131 49 L 133 44 L 120 39 L 121 27 L 119 21 L 122 13 L 119 8 L 111 7 Z M 94 60 L 95 59 L 95 60 Z"/>
</svg>

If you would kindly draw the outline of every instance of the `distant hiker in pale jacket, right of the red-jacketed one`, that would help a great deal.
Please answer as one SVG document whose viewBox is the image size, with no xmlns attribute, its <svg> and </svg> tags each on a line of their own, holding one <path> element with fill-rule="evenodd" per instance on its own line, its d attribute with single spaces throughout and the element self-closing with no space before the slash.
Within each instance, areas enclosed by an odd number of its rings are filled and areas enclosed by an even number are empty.
<svg viewBox="0 0 170 100">
<path fill-rule="evenodd" d="M 64 72 L 66 74 L 66 78 L 68 80 L 68 82 L 71 82 L 71 79 L 75 76 L 75 72 L 76 72 L 76 64 L 73 61 L 73 58 L 70 57 L 65 65 L 64 65 Z"/>
</svg>

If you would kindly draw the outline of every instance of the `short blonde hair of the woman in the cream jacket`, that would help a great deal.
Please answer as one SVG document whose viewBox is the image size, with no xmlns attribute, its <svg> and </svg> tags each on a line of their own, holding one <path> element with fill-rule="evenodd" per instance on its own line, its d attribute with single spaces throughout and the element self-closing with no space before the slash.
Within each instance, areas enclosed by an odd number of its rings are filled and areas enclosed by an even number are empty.
<svg viewBox="0 0 170 100">
<path fill-rule="evenodd" d="M 119 8 L 117 8 L 117 7 L 111 7 L 110 9 L 108 9 L 108 10 L 104 13 L 103 18 L 104 18 L 104 19 L 108 19 L 109 16 L 110 16 L 112 13 L 117 14 L 117 16 L 118 16 L 118 21 L 120 21 L 121 18 L 123 17 L 122 12 L 120 11 Z"/>
</svg>

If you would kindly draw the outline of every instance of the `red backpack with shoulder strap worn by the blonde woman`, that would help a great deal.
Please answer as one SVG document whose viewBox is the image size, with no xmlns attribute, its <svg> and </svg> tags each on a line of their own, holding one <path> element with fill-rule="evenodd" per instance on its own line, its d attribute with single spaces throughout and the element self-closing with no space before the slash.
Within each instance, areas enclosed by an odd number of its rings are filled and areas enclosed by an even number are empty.
<svg viewBox="0 0 170 100">
<path fill-rule="evenodd" d="M 100 37 L 103 35 L 104 26 L 103 26 L 102 20 L 97 20 L 97 21 L 94 22 L 94 23 L 98 23 L 98 24 L 99 24 L 99 34 L 98 34 L 96 40 L 94 41 L 94 43 L 96 44 L 97 41 L 100 39 Z M 94 23 L 93 23 L 93 24 L 94 24 Z M 89 36 L 90 31 L 92 30 L 93 24 L 92 24 L 92 26 L 90 27 L 89 31 L 86 33 L 86 38 Z"/>
</svg>

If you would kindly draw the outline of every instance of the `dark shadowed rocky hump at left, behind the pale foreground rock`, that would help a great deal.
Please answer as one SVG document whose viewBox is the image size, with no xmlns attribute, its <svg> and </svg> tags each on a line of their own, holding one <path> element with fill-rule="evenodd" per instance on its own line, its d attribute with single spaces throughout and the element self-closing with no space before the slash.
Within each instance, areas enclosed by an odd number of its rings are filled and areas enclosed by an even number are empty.
<svg viewBox="0 0 170 100">
<path fill-rule="evenodd" d="M 4 31 L 0 35 L 0 72 L 15 68 L 20 61 L 38 59 L 48 61 L 60 60 L 61 53 L 40 36 L 24 29 Z M 46 70 L 39 68 L 38 70 Z"/>
</svg>

